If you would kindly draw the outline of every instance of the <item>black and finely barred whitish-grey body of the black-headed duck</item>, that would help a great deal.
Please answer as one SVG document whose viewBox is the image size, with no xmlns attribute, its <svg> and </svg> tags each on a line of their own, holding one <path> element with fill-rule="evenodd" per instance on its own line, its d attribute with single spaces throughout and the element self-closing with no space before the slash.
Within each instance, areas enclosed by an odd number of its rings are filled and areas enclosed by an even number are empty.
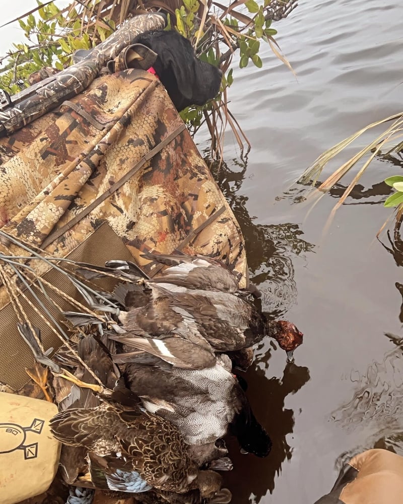
<svg viewBox="0 0 403 504">
<path fill-rule="evenodd" d="M 189 445 L 214 443 L 240 411 L 237 380 L 219 357 L 214 366 L 198 370 L 130 364 L 125 376 L 144 407 L 175 425 Z"/>
</svg>

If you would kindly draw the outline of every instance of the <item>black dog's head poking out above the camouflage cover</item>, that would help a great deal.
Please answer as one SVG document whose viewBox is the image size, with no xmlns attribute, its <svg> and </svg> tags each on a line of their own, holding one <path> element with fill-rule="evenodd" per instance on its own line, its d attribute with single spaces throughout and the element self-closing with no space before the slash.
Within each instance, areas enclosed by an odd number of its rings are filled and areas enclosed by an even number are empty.
<svg viewBox="0 0 403 504">
<path fill-rule="evenodd" d="M 141 33 L 132 43 L 158 54 L 153 67 L 177 110 L 204 105 L 219 92 L 221 70 L 196 58 L 190 42 L 175 30 Z"/>
</svg>

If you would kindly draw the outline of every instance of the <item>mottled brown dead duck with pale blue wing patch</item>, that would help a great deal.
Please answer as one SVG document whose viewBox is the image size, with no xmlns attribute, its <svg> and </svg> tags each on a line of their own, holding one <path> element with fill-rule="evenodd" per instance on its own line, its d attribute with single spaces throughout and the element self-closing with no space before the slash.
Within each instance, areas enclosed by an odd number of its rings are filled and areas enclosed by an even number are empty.
<svg viewBox="0 0 403 504">
<path fill-rule="evenodd" d="M 106 403 L 69 408 L 52 418 L 50 428 L 61 443 L 86 448 L 89 478 L 97 488 L 184 493 L 202 486 L 203 498 L 221 488 L 217 473 L 199 471 L 190 460 L 178 430 L 146 411 Z"/>
</svg>

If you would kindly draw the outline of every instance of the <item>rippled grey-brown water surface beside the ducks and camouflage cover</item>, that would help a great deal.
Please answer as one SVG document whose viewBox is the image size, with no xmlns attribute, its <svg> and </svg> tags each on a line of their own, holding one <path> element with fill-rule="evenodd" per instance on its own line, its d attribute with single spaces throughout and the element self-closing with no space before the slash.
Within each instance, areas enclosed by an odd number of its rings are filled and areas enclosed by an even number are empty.
<svg viewBox="0 0 403 504">
<path fill-rule="evenodd" d="M 263 68 L 237 72 L 231 89 L 252 150 L 240 159 L 228 135 L 217 176 L 265 309 L 305 334 L 295 364 L 265 341 L 247 373 L 250 401 L 274 448 L 264 460 L 234 457 L 227 481 L 234 504 L 312 504 L 350 454 L 374 446 L 401 453 L 403 352 L 384 333 L 403 335 L 403 248 L 394 242 L 393 250 L 385 235 L 389 251 L 375 240 L 390 215 L 382 181 L 401 165 L 375 161 L 326 234 L 343 187 L 309 216 L 298 203 L 304 188 L 288 188 L 323 150 L 401 109 L 402 10 L 390 0 L 301 0 L 276 26 L 298 82 L 267 49 Z"/>
</svg>

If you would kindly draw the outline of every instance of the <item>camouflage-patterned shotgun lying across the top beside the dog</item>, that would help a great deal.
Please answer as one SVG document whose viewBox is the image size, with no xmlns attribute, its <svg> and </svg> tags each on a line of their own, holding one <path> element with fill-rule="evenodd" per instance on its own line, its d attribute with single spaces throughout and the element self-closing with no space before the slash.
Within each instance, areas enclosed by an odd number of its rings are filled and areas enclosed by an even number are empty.
<svg viewBox="0 0 403 504">
<path fill-rule="evenodd" d="M 0 110 L 0 136 L 11 135 L 64 100 L 81 93 L 132 40 L 147 30 L 163 29 L 165 16 L 141 14 L 95 47 L 75 65 L 44 79 L 12 97 L 12 105 Z"/>
</svg>

